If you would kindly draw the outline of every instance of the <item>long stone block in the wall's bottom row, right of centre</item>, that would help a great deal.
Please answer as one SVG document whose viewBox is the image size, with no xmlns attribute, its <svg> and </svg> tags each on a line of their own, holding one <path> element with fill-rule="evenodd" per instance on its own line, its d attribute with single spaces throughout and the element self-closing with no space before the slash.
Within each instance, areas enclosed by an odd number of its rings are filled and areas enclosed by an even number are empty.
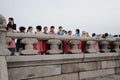
<svg viewBox="0 0 120 80">
<path fill-rule="evenodd" d="M 80 79 L 88 79 L 93 77 L 106 76 L 109 74 L 115 74 L 115 69 L 102 69 L 95 71 L 80 72 L 79 77 Z"/>
</svg>

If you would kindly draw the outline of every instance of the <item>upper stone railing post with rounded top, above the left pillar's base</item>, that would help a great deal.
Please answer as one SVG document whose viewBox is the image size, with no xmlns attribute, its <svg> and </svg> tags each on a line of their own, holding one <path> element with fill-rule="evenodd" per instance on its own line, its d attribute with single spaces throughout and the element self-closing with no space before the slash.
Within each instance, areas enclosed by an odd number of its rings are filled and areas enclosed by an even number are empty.
<svg viewBox="0 0 120 80">
<path fill-rule="evenodd" d="M 2 15 L 0 15 L 0 55 L 11 54 L 7 48 L 6 35 L 6 20 Z"/>
</svg>

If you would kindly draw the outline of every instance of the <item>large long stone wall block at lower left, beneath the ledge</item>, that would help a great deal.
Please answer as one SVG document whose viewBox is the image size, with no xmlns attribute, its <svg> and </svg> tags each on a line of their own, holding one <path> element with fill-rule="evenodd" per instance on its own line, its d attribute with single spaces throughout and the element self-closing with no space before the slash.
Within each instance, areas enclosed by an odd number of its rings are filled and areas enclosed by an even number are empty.
<svg viewBox="0 0 120 80">
<path fill-rule="evenodd" d="M 21 80 L 61 74 L 61 65 L 9 68 L 9 80 Z"/>
</svg>

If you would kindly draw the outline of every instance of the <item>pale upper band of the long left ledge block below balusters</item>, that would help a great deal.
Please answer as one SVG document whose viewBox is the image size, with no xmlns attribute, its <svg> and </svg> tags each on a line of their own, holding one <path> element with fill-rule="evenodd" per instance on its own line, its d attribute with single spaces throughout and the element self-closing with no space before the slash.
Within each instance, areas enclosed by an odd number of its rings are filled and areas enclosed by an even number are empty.
<svg viewBox="0 0 120 80">
<path fill-rule="evenodd" d="M 7 62 L 24 62 L 40 60 L 69 60 L 82 59 L 83 54 L 59 54 L 59 55 L 31 55 L 31 56 L 7 56 Z"/>
</svg>

